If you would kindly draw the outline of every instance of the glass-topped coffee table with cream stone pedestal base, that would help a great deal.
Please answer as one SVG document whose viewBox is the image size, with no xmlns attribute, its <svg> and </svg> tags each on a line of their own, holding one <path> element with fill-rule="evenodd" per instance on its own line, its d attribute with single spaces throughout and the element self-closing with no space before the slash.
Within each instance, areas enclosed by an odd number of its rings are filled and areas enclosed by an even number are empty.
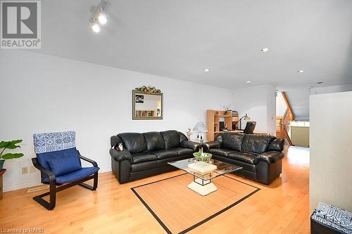
<svg viewBox="0 0 352 234">
<path fill-rule="evenodd" d="M 193 181 L 188 185 L 188 188 L 203 196 L 218 190 L 215 184 L 211 182 L 213 178 L 242 169 L 242 167 L 219 160 L 196 162 L 194 158 L 168 162 L 168 164 L 193 175 Z"/>
</svg>

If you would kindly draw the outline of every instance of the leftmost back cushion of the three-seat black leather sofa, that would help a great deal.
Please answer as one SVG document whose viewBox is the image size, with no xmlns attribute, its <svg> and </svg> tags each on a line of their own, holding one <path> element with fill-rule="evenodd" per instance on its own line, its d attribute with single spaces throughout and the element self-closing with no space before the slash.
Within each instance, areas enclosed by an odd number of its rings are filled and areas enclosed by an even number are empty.
<svg viewBox="0 0 352 234">
<path fill-rule="evenodd" d="M 144 152 L 147 150 L 143 134 L 125 133 L 118 134 L 118 136 L 122 140 L 123 146 L 131 153 Z"/>
</svg>

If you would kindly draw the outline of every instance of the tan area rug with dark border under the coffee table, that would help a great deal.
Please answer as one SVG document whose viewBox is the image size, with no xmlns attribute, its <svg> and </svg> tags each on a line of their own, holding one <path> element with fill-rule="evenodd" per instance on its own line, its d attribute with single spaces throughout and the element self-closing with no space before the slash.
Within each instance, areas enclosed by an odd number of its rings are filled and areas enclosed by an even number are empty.
<svg viewBox="0 0 352 234">
<path fill-rule="evenodd" d="M 187 233 L 260 190 L 219 176 L 212 180 L 218 190 L 202 196 L 187 188 L 192 180 L 191 174 L 181 174 L 131 189 L 167 233 Z"/>
</svg>

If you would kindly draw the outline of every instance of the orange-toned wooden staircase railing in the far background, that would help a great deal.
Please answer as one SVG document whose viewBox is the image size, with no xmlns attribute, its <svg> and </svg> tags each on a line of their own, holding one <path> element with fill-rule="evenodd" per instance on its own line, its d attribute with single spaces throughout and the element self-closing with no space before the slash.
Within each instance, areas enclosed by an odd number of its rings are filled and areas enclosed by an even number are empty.
<svg viewBox="0 0 352 234">
<path fill-rule="evenodd" d="M 294 112 L 291 109 L 291 105 L 289 104 L 289 100 L 287 100 L 285 92 L 282 92 L 282 97 L 287 105 L 287 110 L 284 112 L 284 116 L 276 117 L 276 136 L 278 138 L 284 138 L 289 145 L 293 145 L 288 133 L 290 128 L 289 124 L 294 120 Z"/>
</svg>

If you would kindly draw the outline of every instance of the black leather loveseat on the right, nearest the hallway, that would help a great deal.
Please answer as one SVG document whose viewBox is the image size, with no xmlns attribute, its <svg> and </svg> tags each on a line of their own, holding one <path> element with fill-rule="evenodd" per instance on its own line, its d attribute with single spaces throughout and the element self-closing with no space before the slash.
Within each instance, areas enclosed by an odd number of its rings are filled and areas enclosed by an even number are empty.
<svg viewBox="0 0 352 234">
<path fill-rule="evenodd" d="M 214 159 L 243 167 L 234 174 L 270 184 L 282 171 L 284 139 L 227 132 L 206 143 Z"/>
</svg>

